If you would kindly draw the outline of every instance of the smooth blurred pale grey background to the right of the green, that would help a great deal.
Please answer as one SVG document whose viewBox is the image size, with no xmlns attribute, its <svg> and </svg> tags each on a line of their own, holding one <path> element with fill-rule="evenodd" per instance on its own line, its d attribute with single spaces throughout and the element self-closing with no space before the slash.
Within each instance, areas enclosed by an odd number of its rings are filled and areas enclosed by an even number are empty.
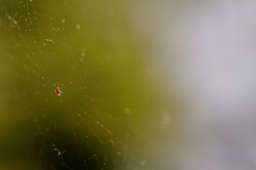
<svg viewBox="0 0 256 170">
<path fill-rule="evenodd" d="M 138 6 L 141 30 L 155 42 L 152 61 L 162 83 L 183 94 L 177 169 L 256 168 L 255 7 L 255 1 Z"/>
</svg>

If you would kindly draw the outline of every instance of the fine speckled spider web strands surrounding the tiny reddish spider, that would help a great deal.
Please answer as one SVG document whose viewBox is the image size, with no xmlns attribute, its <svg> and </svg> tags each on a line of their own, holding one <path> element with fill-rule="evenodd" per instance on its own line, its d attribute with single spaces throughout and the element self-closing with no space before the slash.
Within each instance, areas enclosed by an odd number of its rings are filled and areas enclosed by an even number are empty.
<svg viewBox="0 0 256 170">
<path fill-rule="evenodd" d="M 16 69 L 13 88 L 23 106 L 18 117 L 26 124 L 19 128 L 29 143 L 20 152 L 35 162 L 29 167 L 147 169 L 141 153 L 150 151 L 141 134 L 158 94 L 129 31 L 118 28 L 127 27 L 118 16 L 122 8 L 116 2 L 13 1 L 1 12 Z"/>
</svg>

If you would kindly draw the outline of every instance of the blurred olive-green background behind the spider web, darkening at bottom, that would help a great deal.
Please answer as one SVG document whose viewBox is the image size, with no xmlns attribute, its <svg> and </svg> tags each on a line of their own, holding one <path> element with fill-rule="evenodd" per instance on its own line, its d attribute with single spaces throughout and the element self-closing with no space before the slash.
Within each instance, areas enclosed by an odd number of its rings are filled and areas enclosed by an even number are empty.
<svg viewBox="0 0 256 170">
<path fill-rule="evenodd" d="M 152 68 L 150 35 L 131 20 L 135 5 L 1 1 L 0 169 L 175 161 L 157 154 L 179 108 Z"/>
</svg>

